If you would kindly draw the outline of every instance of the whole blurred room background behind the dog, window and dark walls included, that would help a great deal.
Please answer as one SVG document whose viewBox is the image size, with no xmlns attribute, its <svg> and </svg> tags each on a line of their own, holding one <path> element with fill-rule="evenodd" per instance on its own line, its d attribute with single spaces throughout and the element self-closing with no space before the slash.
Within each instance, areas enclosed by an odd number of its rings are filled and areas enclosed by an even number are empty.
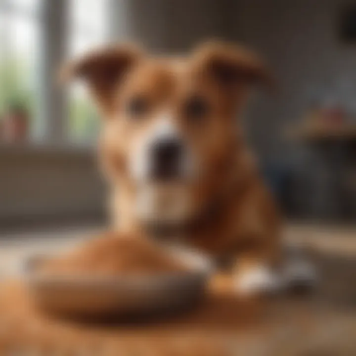
<svg viewBox="0 0 356 356">
<path fill-rule="evenodd" d="M 276 77 L 244 125 L 285 215 L 356 223 L 356 1 L 0 0 L 0 231 L 105 221 L 99 120 L 81 87 L 55 85 L 63 61 L 211 38 L 252 47 Z"/>
</svg>

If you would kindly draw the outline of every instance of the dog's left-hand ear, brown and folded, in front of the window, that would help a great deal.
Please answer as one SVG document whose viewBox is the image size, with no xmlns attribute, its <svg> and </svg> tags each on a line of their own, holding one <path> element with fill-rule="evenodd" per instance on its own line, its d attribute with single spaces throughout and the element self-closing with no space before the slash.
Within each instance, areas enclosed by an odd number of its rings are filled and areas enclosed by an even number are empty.
<svg viewBox="0 0 356 356">
<path fill-rule="evenodd" d="M 65 65 L 59 79 L 61 83 L 85 81 L 101 108 L 110 110 L 120 82 L 141 57 L 142 52 L 134 46 L 106 47 Z"/>
</svg>

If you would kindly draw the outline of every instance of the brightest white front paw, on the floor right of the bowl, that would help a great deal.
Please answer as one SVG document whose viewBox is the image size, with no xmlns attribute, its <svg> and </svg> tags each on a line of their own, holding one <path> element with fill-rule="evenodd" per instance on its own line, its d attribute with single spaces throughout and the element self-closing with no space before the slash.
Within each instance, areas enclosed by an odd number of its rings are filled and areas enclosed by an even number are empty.
<svg viewBox="0 0 356 356">
<path fill-rule="evenodd" d="M 282 288 L 282 280 L 269 267 L 258 265 L 240 272 L 235 279 L 236 292 L 241 296 L 273 294 Z"/>
</svg>

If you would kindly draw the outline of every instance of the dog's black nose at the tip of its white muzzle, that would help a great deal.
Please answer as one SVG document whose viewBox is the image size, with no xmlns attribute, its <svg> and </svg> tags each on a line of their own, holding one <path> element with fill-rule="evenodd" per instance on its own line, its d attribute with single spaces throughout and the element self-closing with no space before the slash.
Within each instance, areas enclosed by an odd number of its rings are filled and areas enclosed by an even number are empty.
<svg viewBox="0 0 356 356">
<path fill-rule="evenodd" d="M 178 178 L 182 144 L 178 139 L 157 141 L 152 148 L 152 177 L 158 180 Z"/>
</svg>

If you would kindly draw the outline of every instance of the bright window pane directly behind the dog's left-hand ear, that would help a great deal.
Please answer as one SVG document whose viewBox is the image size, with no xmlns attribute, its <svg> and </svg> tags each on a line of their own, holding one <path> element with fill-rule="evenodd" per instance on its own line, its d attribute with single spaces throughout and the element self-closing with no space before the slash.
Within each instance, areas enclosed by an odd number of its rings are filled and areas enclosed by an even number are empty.
<svg viewBox="0 0 356 356">
<path fill-rule="evenodd" d="M 109 1 L 70 0 L 70 57 L 108 41 Z M 68 120 L 71 141 L 90 142 L 96 137 L 99 120 L 86 90 L 79 85 L 70 90 Z"/>
</svg>

